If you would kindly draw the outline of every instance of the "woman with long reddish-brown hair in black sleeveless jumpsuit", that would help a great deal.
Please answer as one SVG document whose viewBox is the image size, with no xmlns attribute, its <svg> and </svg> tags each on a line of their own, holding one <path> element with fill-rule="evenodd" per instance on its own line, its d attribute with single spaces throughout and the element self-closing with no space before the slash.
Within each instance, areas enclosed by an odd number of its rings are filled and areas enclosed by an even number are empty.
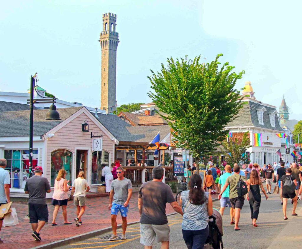
<svg viewBox="0 0 302 249">
<path fill-rule="evenodd" d="M 268 196 L 262 186 L 257 170 L 251 171 L 250 178 L 247 181 L 249 182 L 249 185 L 247 186 L 248 193 L 246 194 L 246 199 L 249 201 L 249 207 L 251 209 L 252 224 L 254 227 L 257 227 L 256 220 L 258 219 L 261 203 L 260 188 L 265 195 L 266 200 Z"/>
</svg>

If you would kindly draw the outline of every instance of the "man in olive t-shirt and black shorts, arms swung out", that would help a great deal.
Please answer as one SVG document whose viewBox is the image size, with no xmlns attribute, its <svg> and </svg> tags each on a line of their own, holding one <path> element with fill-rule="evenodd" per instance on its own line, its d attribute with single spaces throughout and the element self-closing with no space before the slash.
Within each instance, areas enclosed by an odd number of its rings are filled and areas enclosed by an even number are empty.
<svg viewBox="0 0 302 249">
<path fill-rule="evenodd" d="M 239 179 L 241 179 L 246 183 L 246 186 L 249 185 L 249 182 L 246 180 L 246 178 L 244 176 L 239 175 L 239 171 L 240 171 L 239 165 L 234 165 L 233 171 L 234 171 L 234 174 L 229 176 L 226 179 L 226 183 L 224 184 L 223 188 L 221 189 L 220 195 L 218 195 L 218 200 L 221 199 L 221 195 L 226 190 L 227 186 L 230 185 L 230 191 L 229 191 L 230 202 L 231 202 L 232 208 L 235 209 L 235 227 L 234 227 L 234 229 L 236 231 L 238 231 L 238 230 L 240 230 L 240 228 L 238 227 L 238 223 L 239 223 L 239 219 L 240 219 L 240 210 L 242 209 L 243 203 L 244 203 L 244 196 L 238 196 L 237 182 L 239 181 Z"/>
</svg>

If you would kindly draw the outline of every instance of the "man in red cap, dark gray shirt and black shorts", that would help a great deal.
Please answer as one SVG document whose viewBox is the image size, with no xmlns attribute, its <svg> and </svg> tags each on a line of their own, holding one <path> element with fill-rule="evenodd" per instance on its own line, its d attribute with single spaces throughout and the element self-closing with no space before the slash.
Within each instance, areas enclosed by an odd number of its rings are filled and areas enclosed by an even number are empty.
<svg viewBox="0 0 302 249">
<path fill-rule="evenodd" d="M 50 185 L 47 178 L 42 176 L 43 169 L 37 166 L 34 169 L 34 176 L 29 178 L 24 187 L 28 195 L 29 223 L 35 241 L 40 241 L 40 230 L 48 222 L 48 209 L 46 204 L 46 193 L 50 193 Z"/>
</svg>

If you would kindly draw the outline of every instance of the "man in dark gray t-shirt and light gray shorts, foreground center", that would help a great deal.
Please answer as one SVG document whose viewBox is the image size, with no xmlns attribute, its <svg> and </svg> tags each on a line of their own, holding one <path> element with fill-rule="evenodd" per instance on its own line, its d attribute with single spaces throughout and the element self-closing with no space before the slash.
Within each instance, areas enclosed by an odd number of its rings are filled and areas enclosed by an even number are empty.
<svg viewBox="0 0 302 249">
<path fill-rule="evenodd" d="M 166 203 L 183 215 L 182 209 L 176 202 L 169 185 L 162 182 L 164 169 L 154 167 L 153 181 L 141 185 L 138 193 L 138 210 L 140 212 L 140 243 L 153 246 L 157 241 L 162 248 L 169 248 L 170 228 L 166 216 Z"/>
</svg>

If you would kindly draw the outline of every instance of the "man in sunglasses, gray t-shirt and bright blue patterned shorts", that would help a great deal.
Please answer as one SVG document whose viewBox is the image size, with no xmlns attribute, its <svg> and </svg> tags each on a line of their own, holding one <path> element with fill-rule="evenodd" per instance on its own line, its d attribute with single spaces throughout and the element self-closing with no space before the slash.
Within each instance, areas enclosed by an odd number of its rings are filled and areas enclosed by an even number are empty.
<svg viewBox="0 0 302 249">
<path fill-rule="evenodd" d="M 124 177 L 124 169 L 122 167 L 118 167 L 116 169 L 117 179 L 112 182 L 111 191 L 109 195 L 109 206 L 111 209 L 111 225 L 113 234 L 109 238 L 109 240 L 118 239 L 117 236 L 117 222 L 116 216 L 120 211 L 122 216 L 122 238 L 126 239 L 126 228 L 127 228 L 127 214 L 129 208 L 129 201 L 132 196 L 132 183 L 129 179 Z"/>
</svg>

